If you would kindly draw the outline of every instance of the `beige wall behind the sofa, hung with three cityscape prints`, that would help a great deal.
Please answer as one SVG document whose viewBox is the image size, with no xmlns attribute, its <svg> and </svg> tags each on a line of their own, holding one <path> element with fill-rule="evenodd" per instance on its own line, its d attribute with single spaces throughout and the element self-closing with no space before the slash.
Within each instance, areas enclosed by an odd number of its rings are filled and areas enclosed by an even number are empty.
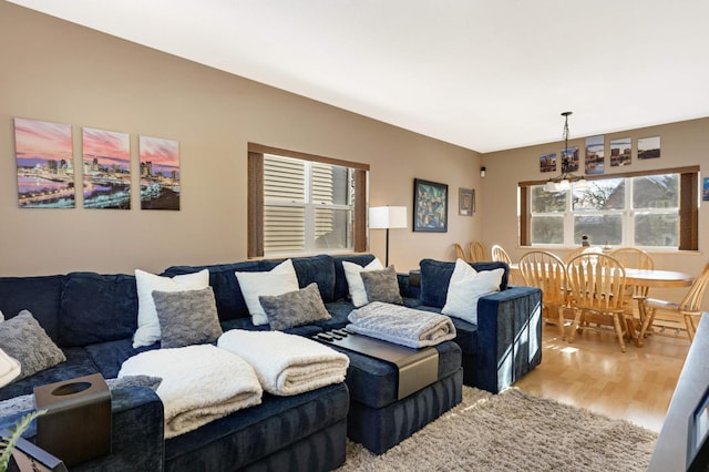
<svg viewBox="0 0 709 472">
<path fill-rule="evenodd" d="M 458 216 L 458 188 L 477 187 L 481 155 L 295 94 L 0 1 L 0 276 L 95 270 L 161 271 L 176 264 L 246 258 L 246 153 L 255 142 L 370 164 L 370 203 L 405 205 L 413 179 L 449 185 L 449 232 L 390 233 L 400 270 L 480 237 L 481 213 Z M 181 146 L 179 212 L 19 208 L 13 117 L 83 126 Z M 479 208 L 481 202 L 479 201 Z M 371 250 L 384 257 L 384 233 Z"/>
</svg>

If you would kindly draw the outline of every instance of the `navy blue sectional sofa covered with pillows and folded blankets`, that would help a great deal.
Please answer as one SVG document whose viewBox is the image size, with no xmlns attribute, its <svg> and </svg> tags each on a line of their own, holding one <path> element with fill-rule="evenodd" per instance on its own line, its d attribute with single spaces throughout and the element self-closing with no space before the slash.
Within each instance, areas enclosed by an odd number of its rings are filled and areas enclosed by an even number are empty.
<svg viewBox="0 0 709 472">
<path fill-rule="evenodd" d="M 353 306 L 348 300 L 342 261 L 364 266 L 372 259 L 371 255 L 294 258 L 299 286 L 317 283 L 332 318 L 287 332 L 311 337 L 346 326 Z M 251 324 L 234 271 L 270 270 L 280 261 L 175 266 L 163 275 L 207 268 L 223 329 L 260 330 L 269 327 Z M 404 304 L 440 311 L 453 266 L 425 259 L 420 274 L 399 274 Z M 112 452 L 72 470 L 331 470 L 345 461 L 347 434 L 376 453 L 386 451 L 460 402 L 463 382 L 497 392 L 541 361 L 540 290 L 507 287 L 508 268 L 502 263 L 473 267 L 504 268 L 501 290 L 480 299 L 477 326 L 454 319 L 458 338 L 436 346 L 439 376 L 433 384 L 397 400 L 394 368 L 348 352 L 346 383 L 294 397 L 265 393 L 260 406 L 168 440 L 163 437 L 162 403 L 153 390 L 114 390 Z M 132 348 L 137 326 L 132 275 L 72 273 L 0 278 L 0 310 L 10 318 L 22 309 L 33 314 L 68 360 L 1 388 L 0 400 L 31 393 L 39 384 L 94 372 L 114 378 L 131 356 L 160 348 L 160 343 Z M 17 419 L 1 418 L 0 428 Z"/>
</svg>

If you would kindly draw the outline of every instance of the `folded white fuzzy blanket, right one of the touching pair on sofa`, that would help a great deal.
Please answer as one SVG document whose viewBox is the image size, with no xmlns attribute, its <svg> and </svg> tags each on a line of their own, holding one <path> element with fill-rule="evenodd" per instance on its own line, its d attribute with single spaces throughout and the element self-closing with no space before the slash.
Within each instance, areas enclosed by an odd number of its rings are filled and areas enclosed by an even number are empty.
<svg viewBox="0 0 709 472">
<path fill-rule="evenodd" d="M 280 331 L 233 329 L 217 346 L 246 359 L 264 390 L 291 396 L 345 381 L 350 359 L 320 342 Z"/>
</svg>

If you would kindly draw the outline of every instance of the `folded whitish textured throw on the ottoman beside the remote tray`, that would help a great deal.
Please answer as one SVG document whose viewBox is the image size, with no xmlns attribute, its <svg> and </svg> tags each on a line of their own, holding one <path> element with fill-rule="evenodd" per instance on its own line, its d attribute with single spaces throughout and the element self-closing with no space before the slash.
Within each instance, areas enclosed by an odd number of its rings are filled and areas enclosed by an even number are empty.
<svg viewBox="0 0 709 472">
<path fill-rule="evenodd" d="M 434 346 L 455 338 L 455 326 L 444 315 L 401 305 L 373 301 L 352 310 L 347 329 L 410 348 Z"/>
</svg>

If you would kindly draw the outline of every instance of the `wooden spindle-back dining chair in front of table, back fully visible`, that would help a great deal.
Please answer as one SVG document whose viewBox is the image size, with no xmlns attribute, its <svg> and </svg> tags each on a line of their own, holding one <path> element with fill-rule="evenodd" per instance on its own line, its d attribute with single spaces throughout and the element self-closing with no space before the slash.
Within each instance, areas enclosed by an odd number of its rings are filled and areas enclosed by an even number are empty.
<svg viewBox="0 0 709 472">
<path fill-rule="evenodd" d="M 610 325 L 615 328 L 620 350 L 629 335 L 626 312 L 626 279 L 623 264 L 613 256 L 585 253 L 566 265 L 568 301 L 574 310 L 574 325 L 568 342 L 583 329 Z M 583 327 L 582 327 L 583 324 Z"/>
</svg>

